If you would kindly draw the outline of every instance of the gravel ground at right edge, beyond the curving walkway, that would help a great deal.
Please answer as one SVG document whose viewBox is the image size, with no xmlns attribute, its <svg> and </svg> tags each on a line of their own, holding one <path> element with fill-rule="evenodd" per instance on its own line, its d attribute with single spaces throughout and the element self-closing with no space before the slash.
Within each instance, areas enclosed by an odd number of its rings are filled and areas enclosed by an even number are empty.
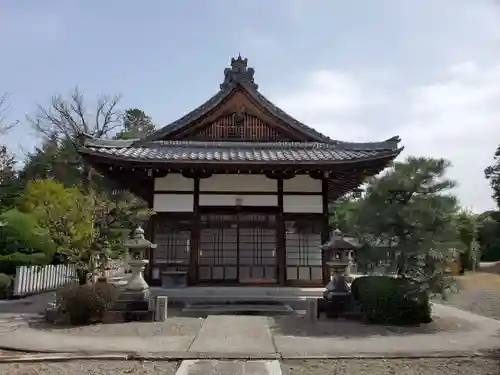
<svg viewBox="0 0 500 375">
<path fill-rule="evenodd" d="M 460 292 L 438 302 L 500 320 L 500 275 L 476 272 L 457 280 Z"/>
</svg>

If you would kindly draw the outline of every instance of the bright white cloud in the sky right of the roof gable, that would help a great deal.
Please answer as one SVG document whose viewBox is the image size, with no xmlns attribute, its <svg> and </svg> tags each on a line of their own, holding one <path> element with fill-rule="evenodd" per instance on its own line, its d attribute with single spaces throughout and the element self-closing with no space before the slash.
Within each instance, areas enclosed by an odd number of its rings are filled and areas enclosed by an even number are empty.
<svg viewBox="0 0 500 375">
<path fill-rule="evenodd" d="M 483 170 L 500 143 L 500 64 L 466 61 L 432 81 L 394 87 L 353 72 L 318 71 L 276 95 L 276 104 L 340 140 L 383 140 L 399 134 L 404 156 L 444 157 L 453 163 L 461 203 L 494 207 Z"/>
</svg>

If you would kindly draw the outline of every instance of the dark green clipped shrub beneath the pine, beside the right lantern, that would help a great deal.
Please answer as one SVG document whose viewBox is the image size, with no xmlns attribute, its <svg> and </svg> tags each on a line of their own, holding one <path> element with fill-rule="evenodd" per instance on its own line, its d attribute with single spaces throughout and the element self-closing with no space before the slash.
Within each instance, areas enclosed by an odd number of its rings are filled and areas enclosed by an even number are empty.
<svg viewBox="0 0 500 375">
<path fill-rule="evenodd" d="M 355 281 L 353 295 L 361 303 L 367 322 L 411 325 L 432 320 L 429 296 L 418 282 L 390 276 L 366 276 Z"/>
</svg>

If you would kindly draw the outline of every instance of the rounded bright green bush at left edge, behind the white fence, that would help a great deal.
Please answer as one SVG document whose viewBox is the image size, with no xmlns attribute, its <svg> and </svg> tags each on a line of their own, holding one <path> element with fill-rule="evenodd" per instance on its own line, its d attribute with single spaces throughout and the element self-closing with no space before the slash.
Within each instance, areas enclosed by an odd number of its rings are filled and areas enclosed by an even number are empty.
<svg viewBox="0 0 500 375">
<path fill-rule="evenodd" d="M 0 272 L 15 274 L 16 266 L 45 265 L 52 261 L 54 246 L 36 217 L 11 209 L 0 216 Z"/>
</svg>

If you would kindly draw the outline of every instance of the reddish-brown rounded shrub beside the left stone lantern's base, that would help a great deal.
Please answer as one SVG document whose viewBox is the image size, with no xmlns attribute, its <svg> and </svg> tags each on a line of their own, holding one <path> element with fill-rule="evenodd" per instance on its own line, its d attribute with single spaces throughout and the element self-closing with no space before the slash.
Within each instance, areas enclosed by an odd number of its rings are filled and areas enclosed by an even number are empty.
<svg viewBox="0 0 500 375">
<path fill-rule="evenodd" d="M 57 292 L 57 307 L 67 315 L 69 323 L 84 325 L 100 322 L 119 294 L 113 284 L 98 282 L 68 285 Z"/>
</svg>

